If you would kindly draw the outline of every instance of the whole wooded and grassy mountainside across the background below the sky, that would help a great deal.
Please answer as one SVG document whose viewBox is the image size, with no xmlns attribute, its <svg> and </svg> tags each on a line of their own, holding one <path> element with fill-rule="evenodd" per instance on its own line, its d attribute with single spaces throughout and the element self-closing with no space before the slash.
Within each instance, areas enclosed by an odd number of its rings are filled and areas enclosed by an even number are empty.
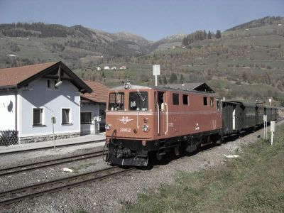
<svg viewBox="0 0 284 213">
<path fill-rule="evenodd" d="M 109 87 L 126 79 L 154 84 L 206 81 L 229 99 L 284 100 L 284 18 L 265 17 L 220 31 L 195 31 L 151 42 L 131 33 L 43 23 L 0 25 L 0 66 L 62 60 L 80 77 Z M 96 66 L 127 70 L 95 71 Z M 85 71 L 89 67 L 89 71 Z M 284 102 L 283 102 L 284 103 Z"/>
</svg>

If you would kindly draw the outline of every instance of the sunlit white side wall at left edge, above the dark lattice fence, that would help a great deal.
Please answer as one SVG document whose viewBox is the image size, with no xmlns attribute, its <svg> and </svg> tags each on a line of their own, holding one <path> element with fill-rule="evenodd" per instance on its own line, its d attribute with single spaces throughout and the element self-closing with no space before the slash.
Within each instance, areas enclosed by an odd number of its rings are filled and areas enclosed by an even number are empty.
<svg viewBox="0 0 284 213">
<path fill-rule="evenodd" d="M 15 94 L 5 92 L 0 94 L 0 131 L 15 130 Z"/>
</svg>

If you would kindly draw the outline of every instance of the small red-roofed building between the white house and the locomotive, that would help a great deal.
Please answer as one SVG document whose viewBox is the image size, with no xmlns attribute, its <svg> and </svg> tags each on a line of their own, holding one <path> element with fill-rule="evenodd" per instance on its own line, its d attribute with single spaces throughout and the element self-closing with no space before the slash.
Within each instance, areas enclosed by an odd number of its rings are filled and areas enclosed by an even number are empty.
<svg viewBox="0 0 284 213">
<path fill-rule="evenodd" d="M 104 128 L 107 94 L 109 88 L 99 82 L 84 80 L 93 90 L 90 94 L 81 95 L 81 134 L 94 134 L 98 126 L 95 126 L 98 117 L 100 128 Z"/>
</svg>

